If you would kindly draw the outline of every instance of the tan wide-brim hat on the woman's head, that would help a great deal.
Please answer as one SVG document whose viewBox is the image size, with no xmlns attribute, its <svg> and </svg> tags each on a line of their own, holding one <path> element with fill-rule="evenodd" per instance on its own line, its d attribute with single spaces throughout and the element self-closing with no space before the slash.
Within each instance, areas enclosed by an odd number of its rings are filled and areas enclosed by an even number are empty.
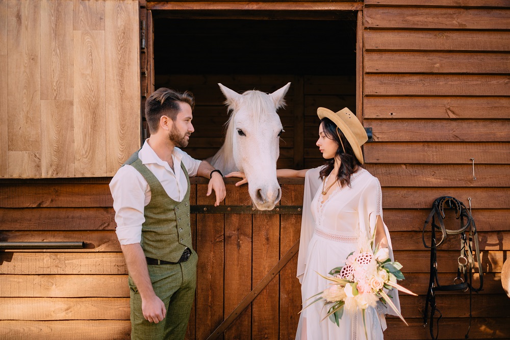
<svg viewBox="0 0 510 340">
<path fill-rule="evenodd" d="M 354 155 L 361 164 L 363 164 L 364 161 L 361 146 L 368 141 L 368 136 L 358 117 L 356 117 L 356 115 L 347 108 L 344 108 L 339 112 L 333 112 L 326 108 L 318 108 L 317 115 L 320 119 L 329 118 L 337 124 L 340 131 L 344 134 L 345 138 L 347 138 L 347 141 L 349 141 L 349 144 L 354 151 Z"/>
</svg>

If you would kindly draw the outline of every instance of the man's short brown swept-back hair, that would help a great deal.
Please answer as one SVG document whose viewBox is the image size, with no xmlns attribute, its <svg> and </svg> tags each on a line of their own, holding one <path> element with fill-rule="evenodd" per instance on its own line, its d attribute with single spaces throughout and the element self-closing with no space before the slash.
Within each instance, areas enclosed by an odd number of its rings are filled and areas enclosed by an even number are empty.
<svg viewBox="0 0 510 340">
<path fill-rule="evenodd" d="M 158 132 L 161 116 L 167 116 L 175 121 L 181 111 L 181 102 L 188 103 L 192 111 L 195 108 L 195 98 L 189 91 L 180 93 L 162 87 L 152 92 L 145 101 L 145 119 L 149 125 L 149 132 L 151 134 Z"/>
</svg>

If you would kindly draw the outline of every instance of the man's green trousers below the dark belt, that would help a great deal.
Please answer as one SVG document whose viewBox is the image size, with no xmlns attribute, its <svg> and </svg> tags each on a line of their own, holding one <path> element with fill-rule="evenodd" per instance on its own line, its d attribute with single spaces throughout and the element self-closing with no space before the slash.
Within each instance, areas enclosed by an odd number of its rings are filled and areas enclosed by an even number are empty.
<svg viewBox="0 0 510 340">
<path fill-rule="evenodd" d="M 152 288 L 166 307 L 159 323 L 145 320 L 142 299 L 129 277 L 132 340 L 183 340 L 195 299 L 197 255 L 176 265 L 147 265 Z"/>
</svg>

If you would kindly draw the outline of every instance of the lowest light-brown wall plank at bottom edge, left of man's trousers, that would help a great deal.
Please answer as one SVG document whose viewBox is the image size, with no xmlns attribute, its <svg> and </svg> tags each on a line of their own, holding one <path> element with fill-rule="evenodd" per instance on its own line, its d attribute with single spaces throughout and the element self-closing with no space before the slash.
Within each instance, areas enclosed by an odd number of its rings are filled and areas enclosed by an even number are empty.
<svg viewBox="0 0 510 340">
<path fill-rule="evenodd" d="M 71 320 L 71 321 L 0 321 L 0 337 L 38 340 L 129 340 L 129 320 Z"/>
</svg>

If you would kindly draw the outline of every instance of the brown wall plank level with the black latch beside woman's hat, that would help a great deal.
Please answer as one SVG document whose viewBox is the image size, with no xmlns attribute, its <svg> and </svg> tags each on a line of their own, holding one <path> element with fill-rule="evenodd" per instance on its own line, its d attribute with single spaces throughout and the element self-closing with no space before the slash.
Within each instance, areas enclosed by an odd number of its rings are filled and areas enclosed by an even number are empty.
<svg viewBox="0 0 510 340">
<path fill-rule="evenodd" d="M 510 120 L 365 119 L 374 142 L 509 142 Z"/>
</svg>

